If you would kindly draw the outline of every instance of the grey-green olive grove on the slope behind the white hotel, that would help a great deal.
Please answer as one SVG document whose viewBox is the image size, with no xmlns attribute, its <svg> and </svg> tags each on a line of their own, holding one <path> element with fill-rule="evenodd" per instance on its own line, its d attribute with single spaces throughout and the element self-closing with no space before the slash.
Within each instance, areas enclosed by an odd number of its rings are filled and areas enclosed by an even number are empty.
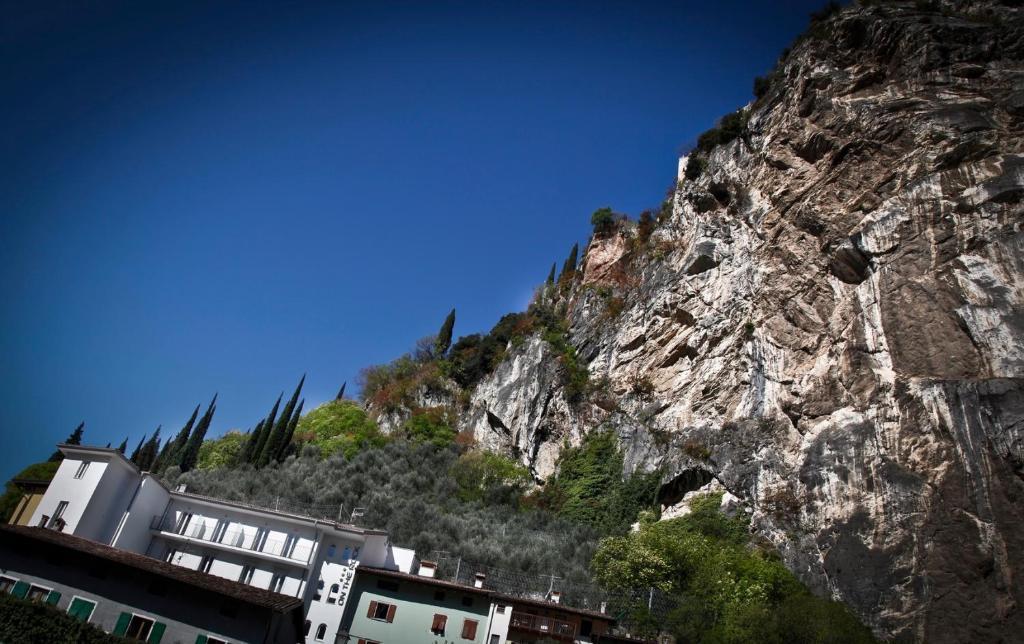
<svg viewBox="0 0 1024 644">
<path fill-rule="evenodd" d="M 471 453 L 470 453 L 471 454 Z M 479 459 L 479 460 L 477 460 Z M 307 446 L 281 464 L 256 470 L 194 470 L 170 484 L 228 500 L 248 501 L 329 518 L 366 512 L 360 525 L 388 530 L 423 557 L 434 551 L 506 569 L 589 581 L 598 533 L 524 503 L 521 469 L 500 458 L 460 454 L 455 445 L 396 439 L 351 459 L 342 450 L 322 459 Z"/>
</svg>

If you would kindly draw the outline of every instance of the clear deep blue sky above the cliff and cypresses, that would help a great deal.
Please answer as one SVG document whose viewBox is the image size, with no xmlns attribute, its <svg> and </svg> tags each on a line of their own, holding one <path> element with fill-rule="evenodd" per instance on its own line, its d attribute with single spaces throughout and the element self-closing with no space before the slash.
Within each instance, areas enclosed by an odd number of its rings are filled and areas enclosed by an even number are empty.
<svg viewBox="0 0 1024 644">
<path fill-rule="evenodd" d="M 0 20 L 0 476 L 248 428 L 522 309 L 823 2 L 17 2 Z"/>
</svg>

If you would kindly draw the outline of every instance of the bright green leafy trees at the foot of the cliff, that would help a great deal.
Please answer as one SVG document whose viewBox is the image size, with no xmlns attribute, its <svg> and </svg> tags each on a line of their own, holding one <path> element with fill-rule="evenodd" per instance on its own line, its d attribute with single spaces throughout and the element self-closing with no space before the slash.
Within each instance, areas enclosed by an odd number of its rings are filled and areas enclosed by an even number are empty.
<svg viewBox="0 0 1024 644">
<path fill-rule="evenodd" d="M 638 531 L 603 540 L 595 576 L 611 589 L 676 596 L 662 628 L 679 641 L 874 641 L 842 604 L 811 595 L 774 551 L 753 547 L 744 515 L 727 517 L 720 504 L 721 495 L 709 495 L 684 517 L 646 520 Z"/>
</svg>

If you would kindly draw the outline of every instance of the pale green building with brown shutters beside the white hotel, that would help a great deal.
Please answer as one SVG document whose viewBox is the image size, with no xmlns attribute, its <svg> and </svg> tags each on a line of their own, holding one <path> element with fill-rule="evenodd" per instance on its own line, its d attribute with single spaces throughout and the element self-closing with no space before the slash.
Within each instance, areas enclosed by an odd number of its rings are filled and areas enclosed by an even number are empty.
<svg viewBox="0 0 1024 644">
<path fill-rule="evenodd" d="M 359 566 L 341 628 L 350 644 L 484 642 L 490 606 L 483 589 Z M 310 633 L 307 641 L 331 639 Z"/>
</svg>

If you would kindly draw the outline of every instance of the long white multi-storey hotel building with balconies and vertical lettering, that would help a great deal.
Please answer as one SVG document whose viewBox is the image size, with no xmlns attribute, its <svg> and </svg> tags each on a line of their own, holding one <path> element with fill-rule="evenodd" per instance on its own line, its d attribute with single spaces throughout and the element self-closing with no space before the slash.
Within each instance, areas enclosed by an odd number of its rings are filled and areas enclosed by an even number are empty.
<svg viewBox="0 0 1024 644">
<path fill-rule="evenodd" d="M 117 449 L 58 448 L 65 460 L 30 525 L 299 598 L 310 642 L 311 624 L 339 631 L 357 565 L 417 565 L 382 530 L 169 490 Z"/>
</svg>

